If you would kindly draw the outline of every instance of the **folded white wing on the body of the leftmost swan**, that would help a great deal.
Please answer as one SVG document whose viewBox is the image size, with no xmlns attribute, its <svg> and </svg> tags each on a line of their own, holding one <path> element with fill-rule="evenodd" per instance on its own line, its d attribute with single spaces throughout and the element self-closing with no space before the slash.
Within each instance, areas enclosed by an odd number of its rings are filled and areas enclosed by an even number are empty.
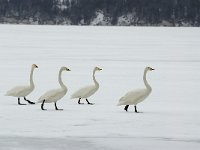
<svg viewBox="0 0 200 150">
<path fill-rule="evenodd" d="M 6 93 L 6 96 L 21 96 L 30 92 L 30 86 L 16 86 Z"/>
</svg>

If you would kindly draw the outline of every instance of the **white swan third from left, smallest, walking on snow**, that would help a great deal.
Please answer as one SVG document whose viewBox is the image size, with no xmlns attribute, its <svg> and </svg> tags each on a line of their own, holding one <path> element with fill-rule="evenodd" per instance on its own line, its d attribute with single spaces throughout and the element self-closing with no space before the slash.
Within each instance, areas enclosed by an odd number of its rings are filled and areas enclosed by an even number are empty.
<svg viewBox="0 0 200 150">
<path fill-rule="evenodd" d="M 79 98 L 78 104 L 84 104 L 84 103 L 80 103 L 80 100 L 81 100 L 81 98 L 85 98 L 88 104 L 93 105 L 93 103 L 90 103 L 88 101 L 88 97 L 93 95 L 99 89 L 99 83 L 95 79 L 95 73 L 96 73 L 96 71 L 100 71 L 100 70 L 102 70 L 102 69 L 99 67 L 95 67 L 93 70 L 94 85 L 89 85 L 89 86 L 79 89 L 74 94 L 72 94 L 71 99 Z"/>
</svg>

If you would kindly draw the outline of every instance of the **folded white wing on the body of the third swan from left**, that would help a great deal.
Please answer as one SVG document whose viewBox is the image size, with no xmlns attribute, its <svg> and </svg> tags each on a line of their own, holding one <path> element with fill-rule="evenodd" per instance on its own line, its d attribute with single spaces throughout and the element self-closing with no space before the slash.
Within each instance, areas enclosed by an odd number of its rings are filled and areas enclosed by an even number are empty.
<svg viewBox="0 0 200 150">
<path fill-rule="evenodd" d="M 71 99 L 73 98 L 87 98 L 94 94 L 97 91 L 98 88 L 95 87 L 95 85 L 89 85 L 85 86 L 78 91 L 76 91 L 74 94 L 72 94 Z"/>
</svg>

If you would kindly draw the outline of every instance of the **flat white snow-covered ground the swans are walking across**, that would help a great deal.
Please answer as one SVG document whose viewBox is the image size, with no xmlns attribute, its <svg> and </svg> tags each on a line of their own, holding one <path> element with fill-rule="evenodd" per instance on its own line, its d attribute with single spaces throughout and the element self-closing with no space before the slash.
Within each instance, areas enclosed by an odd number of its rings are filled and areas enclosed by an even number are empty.
<svg viewBox="0 0 200 150">
<path fill-rule="evenodd" d="M 87 27 L 0 25 L 0 148 L 7 149 L 149 149 L 200 148 L 200 29 L 166 27 Z M 32 101 L 59 87 L 61 66 L 68 87 L 54 104 L 17 105 L 4 96 L 29 83 L 31 64 L 35 90 Z M 78 105 L 70 95 L 92 84 L 100 88 Z M 138 105 L 116 106 L 120 97 L 144 87 L 143 70 L 155 68 L 147 80 L 151 95 Z M 22 100 L 23 103 L 26 103 Z M 85 102 L 84 100 L 82 102 Z M 85 102 L 86 103 L 86 102 Z"/>
</svg>

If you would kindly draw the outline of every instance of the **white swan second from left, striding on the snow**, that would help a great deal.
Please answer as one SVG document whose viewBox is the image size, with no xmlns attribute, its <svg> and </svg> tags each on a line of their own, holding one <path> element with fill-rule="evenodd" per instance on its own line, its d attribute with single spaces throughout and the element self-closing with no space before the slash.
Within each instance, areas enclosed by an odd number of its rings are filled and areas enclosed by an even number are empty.
<svg viewBox="0 0 200 150">
<path fill-rule="evenodd" d="M 59 74 L 58 74 L 58 82 L 59 82 L 61 88 L 47 91 L 45 94 L 43 94 L 38 99 L 37 103 L 42 103 L 41 104 L 42 110 L 46 110 L 46 109 L 44 109 L 44 103 L 52 103 L 52 102 L 54 102 L 56 110 L 63 110 L 63 109 L 58 109 L 58 107 L 56 105 L 56 102 L 58 100 L 60 100 L 62 97 L 64 97 L 65 94 L 67 93 L 67 87 L 64 85 L 64 83 L 62 82 L 62 79 L 61 79 L 61 74 L 63 71 L 71 71 L 71 70 L 66 67 L 60 68 Z"/>
</svg>

